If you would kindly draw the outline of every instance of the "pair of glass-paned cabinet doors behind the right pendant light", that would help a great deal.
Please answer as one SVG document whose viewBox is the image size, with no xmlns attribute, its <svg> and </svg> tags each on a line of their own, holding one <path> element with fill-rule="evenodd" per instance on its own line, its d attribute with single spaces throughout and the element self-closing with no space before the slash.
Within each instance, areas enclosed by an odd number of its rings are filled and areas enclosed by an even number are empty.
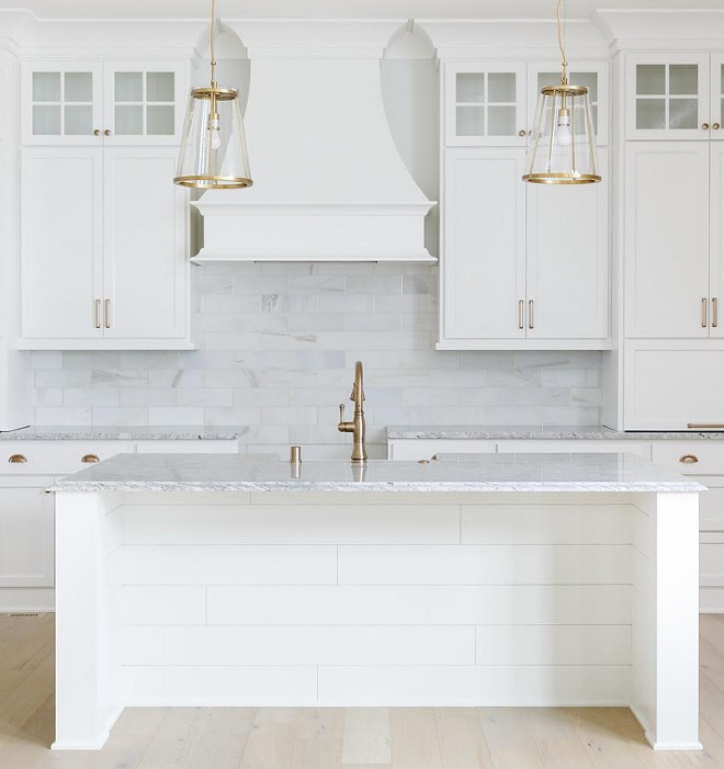
<svg viewBox="0 0 724 769">
<path fill-rule="evenodd" d="M 598 144 L 608 144 L 609 63 L 570 72 L 588 87 Z M 561 82 L 559 61 L 445 64 L 445 144 L 452 147 L 525 147 L 541 88 Z"/>
</svg>

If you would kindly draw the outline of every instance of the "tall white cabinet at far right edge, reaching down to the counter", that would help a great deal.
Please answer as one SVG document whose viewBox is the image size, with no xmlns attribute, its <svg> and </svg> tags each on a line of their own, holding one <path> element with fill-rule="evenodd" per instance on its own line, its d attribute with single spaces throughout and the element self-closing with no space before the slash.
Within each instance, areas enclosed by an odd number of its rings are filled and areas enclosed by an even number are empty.
<svg viewBox="0 0 724 769">
<path fill-rule="evenodd" d="M 623 73 L 623 427 L 724 429 L 724 56 Z"/>
</svg>

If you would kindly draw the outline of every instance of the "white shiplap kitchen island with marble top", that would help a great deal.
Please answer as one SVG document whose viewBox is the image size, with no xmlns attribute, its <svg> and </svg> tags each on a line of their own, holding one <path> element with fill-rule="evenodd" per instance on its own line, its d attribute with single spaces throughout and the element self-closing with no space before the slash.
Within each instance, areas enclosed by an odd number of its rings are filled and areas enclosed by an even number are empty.
<svg viewBox="0 0 724 769">
<path fill-rule="evenodd" d="M 56 749 L 129 705 L 630 705 L 697 749 L 698 483 L 126 454 L 56 493 Z"/>
</svg>

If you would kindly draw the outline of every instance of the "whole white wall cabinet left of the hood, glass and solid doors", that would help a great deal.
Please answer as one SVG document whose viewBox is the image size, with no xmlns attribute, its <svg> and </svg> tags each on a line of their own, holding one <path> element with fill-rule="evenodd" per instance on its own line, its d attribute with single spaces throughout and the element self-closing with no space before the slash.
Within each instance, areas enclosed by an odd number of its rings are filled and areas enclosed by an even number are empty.
<svg viewBox="0 0 724 769">
<path fill-rule="evenodd" d="M 23 349 L 192 349 L 188 63 L 25 60 Z"/>
</svg>

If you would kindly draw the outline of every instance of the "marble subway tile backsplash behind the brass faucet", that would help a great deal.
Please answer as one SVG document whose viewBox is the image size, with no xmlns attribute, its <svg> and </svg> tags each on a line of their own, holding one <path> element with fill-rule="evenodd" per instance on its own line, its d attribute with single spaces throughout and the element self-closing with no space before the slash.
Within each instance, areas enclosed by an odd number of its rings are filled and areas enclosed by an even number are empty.
<svg viewBox="0 0 724 769">
<path fill-rule="evenodd" d="M 197 351 L 33 353 L 36 423 L 244 426 L 342 457 L 358 359 L 373 456 L 393 423 L 600 422 L 598 352 L 435 351 L 434 265 L 206 265 L 192 285 Z"/>
</svg>

